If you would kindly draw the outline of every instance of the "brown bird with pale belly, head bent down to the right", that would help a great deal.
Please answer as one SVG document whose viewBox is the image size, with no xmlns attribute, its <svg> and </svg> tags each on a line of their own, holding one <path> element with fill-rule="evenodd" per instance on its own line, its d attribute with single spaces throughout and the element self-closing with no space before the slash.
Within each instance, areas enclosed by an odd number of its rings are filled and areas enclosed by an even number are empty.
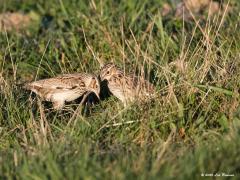
<svg viewBox="0 0 240 180">
<path fill-rule="evenodd" d="M 52 102 L 55 110 L 62 109 L 65 102 L 73 101 L 90 92 L 100 99 L 99 78 L 89 73 L 63 74 L 26 83 L 24 88 L 36 93 L 44 101 Z"/>
</svg>

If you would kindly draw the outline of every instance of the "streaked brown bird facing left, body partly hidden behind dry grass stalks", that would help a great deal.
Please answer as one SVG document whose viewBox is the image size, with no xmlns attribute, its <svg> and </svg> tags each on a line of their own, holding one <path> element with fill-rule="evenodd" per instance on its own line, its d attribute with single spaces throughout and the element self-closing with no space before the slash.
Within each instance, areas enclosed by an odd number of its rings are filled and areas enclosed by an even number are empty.
<svg viewBox="0 0 240 180">
<path fill-rule="evenodd" d="M 124 106 L 135 100 L 151 98 L 155 87 L 149 81 L 134 74 L 125 74 L 114 63 L 107 63 L 100 69 L 101 81 L 107 81 L 110 92 L 121 100 Z"/>
</svg>

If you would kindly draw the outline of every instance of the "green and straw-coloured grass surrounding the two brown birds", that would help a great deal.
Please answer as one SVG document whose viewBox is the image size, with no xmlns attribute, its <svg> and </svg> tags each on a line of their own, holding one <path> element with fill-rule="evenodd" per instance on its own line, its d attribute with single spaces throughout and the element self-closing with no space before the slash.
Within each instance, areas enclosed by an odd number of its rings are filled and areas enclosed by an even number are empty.
<svg viewBox="0 0 240 180">
<path fill-rule="evenodd" d="M 237 0 L 230 13 L 188 22 L 161 17 L 163 0 L 0 2 L 35 16 L 0 33 L 1 179 L 239 178 Z M 19 85 L 98 72 L 99 60 L 144 69 L 160 96 L 55 112 Z"/>
</svg>

